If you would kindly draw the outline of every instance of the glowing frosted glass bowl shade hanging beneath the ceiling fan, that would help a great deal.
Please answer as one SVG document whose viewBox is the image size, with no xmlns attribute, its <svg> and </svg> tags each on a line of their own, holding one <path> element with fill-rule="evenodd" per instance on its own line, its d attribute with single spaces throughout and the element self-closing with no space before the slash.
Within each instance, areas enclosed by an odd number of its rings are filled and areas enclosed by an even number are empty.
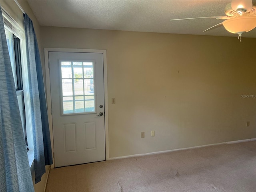
<svg viewBox="0 0 256 192">
<path fill-rule="evenodd" d="M 256 27 L 256 16 L 243 14 L 227 19 L 222 24 L 230 33 L 243 34 Z"/>
</svg>

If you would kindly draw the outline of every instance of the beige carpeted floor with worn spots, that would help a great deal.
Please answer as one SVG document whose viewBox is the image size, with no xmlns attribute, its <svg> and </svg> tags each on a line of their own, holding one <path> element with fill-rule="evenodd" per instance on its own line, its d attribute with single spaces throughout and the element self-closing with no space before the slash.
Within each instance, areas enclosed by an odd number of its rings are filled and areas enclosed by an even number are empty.
<svg viewBox="0 0 256 192">
<path fill-rule="evenodd" d="M 46 192 L 255 192 L 256 141 L 50 170 Z"/>
</svg>

